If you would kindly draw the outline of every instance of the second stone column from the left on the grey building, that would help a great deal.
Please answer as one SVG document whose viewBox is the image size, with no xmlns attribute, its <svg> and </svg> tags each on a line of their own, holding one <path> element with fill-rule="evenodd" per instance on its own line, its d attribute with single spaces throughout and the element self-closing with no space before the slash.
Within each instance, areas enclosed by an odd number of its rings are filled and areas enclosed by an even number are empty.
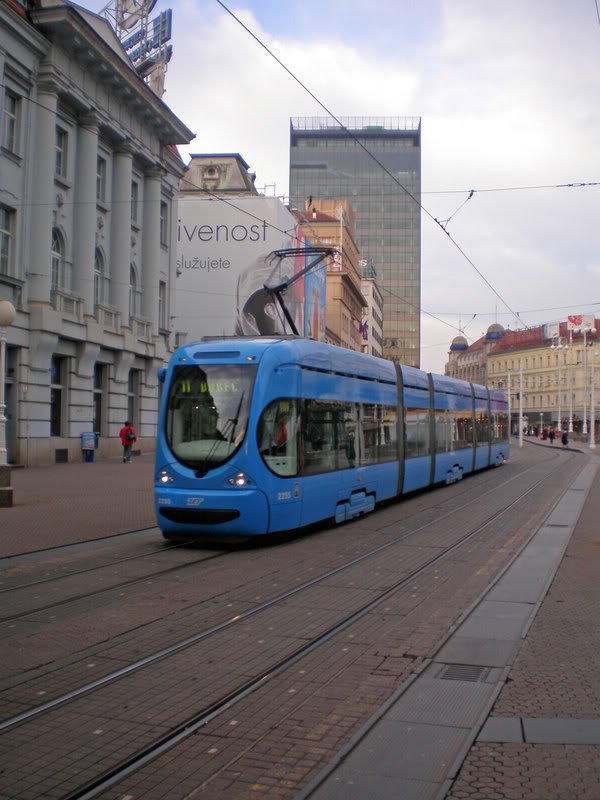
<svg viewBox="0 0 600 800">
<path fill-rule="evenodd" d="M 84 313 L 94 313 L 94 256 L 96 252 L 96 174 L 98 119 L 80 120 L 75 169 L 73 214 L 73 289 L 84 299 Z"/>
</svg>

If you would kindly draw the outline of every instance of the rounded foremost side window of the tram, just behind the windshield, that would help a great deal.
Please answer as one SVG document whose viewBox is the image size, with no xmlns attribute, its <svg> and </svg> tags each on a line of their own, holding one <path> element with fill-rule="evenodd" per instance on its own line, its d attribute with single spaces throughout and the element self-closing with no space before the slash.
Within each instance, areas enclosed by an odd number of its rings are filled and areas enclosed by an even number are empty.
<svg viewBox="0 0 600 800">
<path fill-rule="evenodd" d="M 261 457 L 267 467 L 281 477 L 298 474 L 298 403 L 294 398 L 274 400 L 258 422 L 256 440 Z"/>
</svg>

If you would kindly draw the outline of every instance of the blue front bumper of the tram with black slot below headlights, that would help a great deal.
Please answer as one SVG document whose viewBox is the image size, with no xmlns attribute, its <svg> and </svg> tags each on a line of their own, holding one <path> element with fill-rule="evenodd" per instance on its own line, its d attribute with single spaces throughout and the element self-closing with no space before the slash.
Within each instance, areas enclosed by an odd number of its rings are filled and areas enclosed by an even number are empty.
<svg viewBox="0 0 600 800">
<path fill-rule="evenodd" d="M 157 487 L 155 511 L 165 533 L 254 536 L 269 529 L 269 505 L 259 489 L 193 492 Z"/>
</svg>

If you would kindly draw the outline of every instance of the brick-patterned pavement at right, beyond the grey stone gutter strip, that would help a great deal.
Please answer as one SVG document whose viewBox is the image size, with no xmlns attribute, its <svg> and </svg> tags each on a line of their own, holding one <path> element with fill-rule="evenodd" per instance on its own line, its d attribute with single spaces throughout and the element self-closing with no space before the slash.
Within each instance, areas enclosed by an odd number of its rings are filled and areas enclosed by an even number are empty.
<svg viewBox="0 0 600 800">
<path fill-rule="evenodd" d="M 449 800 L 600 800 L 599 520 L 597 476 L 491 712 L 494 719 L 519 720 L 526 741 L 476 741 Z M 542 720 L 540 738 L 545 730 L 554 742 L 528 741 L 532 720 Z M 582 721 L 579 734 L 573 720 Z M 584 730 L 596 732 L 595 744 L 573 743 Z"/>
</svg>

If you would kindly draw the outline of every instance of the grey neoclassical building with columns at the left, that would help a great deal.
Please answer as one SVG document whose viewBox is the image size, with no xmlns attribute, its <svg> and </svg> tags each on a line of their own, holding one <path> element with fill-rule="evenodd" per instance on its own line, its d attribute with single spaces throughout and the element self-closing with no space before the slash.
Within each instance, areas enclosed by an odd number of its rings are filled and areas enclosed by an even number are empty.
<svg viewBox="0 0 600 800">
<path fill-rule="evenodd" d="M 151 448 L 173 349 L 176 200 L 188 128 L 108 22 L 57 0 L 0 0 L 0 299 L 9 461 Z"/>
</svg>

